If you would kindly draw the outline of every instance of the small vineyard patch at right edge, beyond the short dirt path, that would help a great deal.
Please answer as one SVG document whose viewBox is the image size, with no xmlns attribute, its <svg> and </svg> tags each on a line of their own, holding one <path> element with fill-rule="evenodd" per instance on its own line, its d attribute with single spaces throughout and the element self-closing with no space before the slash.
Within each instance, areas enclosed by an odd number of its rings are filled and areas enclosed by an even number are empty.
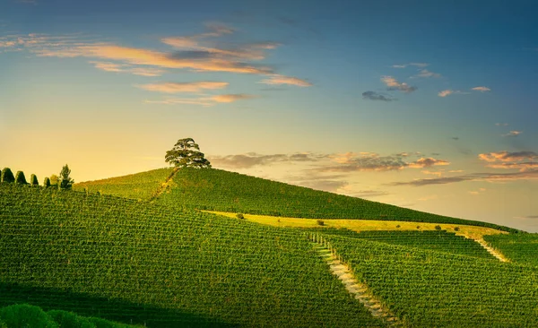
<svg viewBox="0 0 538 328">
<path fill-rule="evenodd" d="M 486 236 L 484 240 L 510 261 L 538 267 L 538 234 Z"/>
</svg>

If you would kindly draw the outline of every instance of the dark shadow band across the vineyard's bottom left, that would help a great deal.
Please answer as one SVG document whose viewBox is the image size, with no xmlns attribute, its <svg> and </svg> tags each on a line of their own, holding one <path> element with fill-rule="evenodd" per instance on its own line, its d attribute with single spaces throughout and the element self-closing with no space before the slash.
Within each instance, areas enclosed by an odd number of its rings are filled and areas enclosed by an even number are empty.
<svg viewBox="0 0 538 328">
<path fill-rule="evenodd" d="M 0 307 L 27 303 L 43 310 L 72 311 L 77 315 L 97 316 L 124 324 L 148 327 L 233 327 L 216 318 L 181 310 L 136 305 L 123 300 L 92 297 L 60 289 L 36 288 L 0 282 Z"/>
</svg>

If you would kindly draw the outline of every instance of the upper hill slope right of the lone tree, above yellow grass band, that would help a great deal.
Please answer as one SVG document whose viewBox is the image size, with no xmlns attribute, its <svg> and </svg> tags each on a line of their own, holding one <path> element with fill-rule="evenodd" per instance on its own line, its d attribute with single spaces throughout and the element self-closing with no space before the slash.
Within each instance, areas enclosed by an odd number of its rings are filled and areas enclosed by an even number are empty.
<svg viewBox="0 0 538 328">
<path fill-rule="evenodd" d="M 405 220 L 472 224 L 517 232 L 495 224 L 413 211 L 221 169 L 179 169 L 159 203 L 200 210 L 322 219 Z"/>
</svg>

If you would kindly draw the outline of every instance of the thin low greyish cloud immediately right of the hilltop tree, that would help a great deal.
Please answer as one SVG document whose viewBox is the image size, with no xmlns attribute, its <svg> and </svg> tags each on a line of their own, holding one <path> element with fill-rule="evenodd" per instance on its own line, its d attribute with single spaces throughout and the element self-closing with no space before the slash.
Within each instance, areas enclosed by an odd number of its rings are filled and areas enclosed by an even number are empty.
<svg viewBox="0 0 538 328">
<path fill-rule="evenodd" d="M 293 154 L 271 154 L 262 155 L 256 152 L 246 154 L 211 156 L 213 166 L 222 168 L 252 168 L 255 166 L 271 165 L 273 163 L 291 162 L 316 162 L 322 160 L 326 155 L 318 155 L 311 152 L 297 152 Z M 312 177 L 309 177 L 310 179 Z"/>
</svg>

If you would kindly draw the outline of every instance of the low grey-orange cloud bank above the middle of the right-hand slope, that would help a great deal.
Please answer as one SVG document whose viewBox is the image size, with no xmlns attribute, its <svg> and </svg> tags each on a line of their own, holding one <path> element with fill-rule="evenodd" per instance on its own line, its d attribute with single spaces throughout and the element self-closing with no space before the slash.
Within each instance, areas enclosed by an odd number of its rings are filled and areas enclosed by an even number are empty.
<svg viewBox="0 0 538 328">
<path fill-rule="evenodd" d="M 356 171 L 391 171 L 404 168 L 430 168 L 432 166 L 449 165 L 447 160 L 421 158 L 415 161 L 404 161 L 403 156 L 379 156 L 376 153 L 333 154 L 329 157 L 339 165 L 316 168 L 323 172 L 356 172 Z"/>
</svg>

